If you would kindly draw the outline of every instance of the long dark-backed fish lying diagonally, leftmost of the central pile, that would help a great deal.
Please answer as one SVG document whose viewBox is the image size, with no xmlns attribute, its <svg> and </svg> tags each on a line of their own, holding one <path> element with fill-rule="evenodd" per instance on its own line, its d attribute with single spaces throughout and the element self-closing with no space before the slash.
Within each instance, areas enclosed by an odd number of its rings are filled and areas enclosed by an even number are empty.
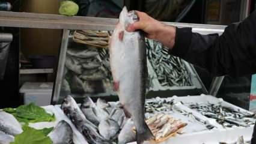
<svg viewBox="0 0 256 144">
<path fill-rule="evenodd" d="M 102 136 L 100 136 L 96 125 L 85 118 L 72 96 L 68 95 L 66 98 L 64 98 L 61 109 L 72 120 L 78 131 L 84 135 L 88 143 L 108 144 L 108 142 Z"/>
</svg>

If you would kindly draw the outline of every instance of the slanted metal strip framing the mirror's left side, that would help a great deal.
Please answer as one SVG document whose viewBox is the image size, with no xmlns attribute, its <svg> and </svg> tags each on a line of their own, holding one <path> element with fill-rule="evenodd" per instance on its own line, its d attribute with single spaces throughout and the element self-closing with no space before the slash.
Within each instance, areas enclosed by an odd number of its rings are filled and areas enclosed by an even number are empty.
<svg viewBox="0 0 256 144">
<path fill-rule="evenodd" d="M 61 82 L 63 78 L 63 71 L 64 65 L 66 60 L 66 53 L 67 53 L 67 44 L 69 43 L 69 33 L 68 29 L 63 30 L 62 41 L 61 41 L 61 50 L 59 52 L 59 62 L 58 62 L 58 69 L 56 74 L 55 85 L 53 88 L 53 97 L 51 104 L 55 104 L 56 101 L 59 100 L 59 93 L 61 91 Z"/>
</svg>

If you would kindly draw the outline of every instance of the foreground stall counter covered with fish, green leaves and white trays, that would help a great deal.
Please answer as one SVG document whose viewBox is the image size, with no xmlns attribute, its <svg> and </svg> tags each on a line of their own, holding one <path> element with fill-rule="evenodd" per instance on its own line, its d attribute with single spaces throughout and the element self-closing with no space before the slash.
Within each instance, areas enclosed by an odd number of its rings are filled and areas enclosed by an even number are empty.
<svg viewBox="0 0 256 144">
<path fill-rule="evenodd" d="M 126 118 L 118 101 L 98 98 L 94 103 L 85 97 L 78 104 L 68 96 L 61 105 L 38 108 L 28 104 L 1 110 L 0 115 L 0 143 L 19 143 L 16 140 L 26 139 L 31 131 L 40 136 L 40 130 L 46 134 L 39 140 L 47 137 L 53 143 L 136 143 L 133 121 Z M 254 113 L 211 95 L 147 99 L 145 118 L 155 137 L 146 143 L 172 144 L 187 140 L 192 144 L 247 143 L 256 119 Z"/>
</svg>

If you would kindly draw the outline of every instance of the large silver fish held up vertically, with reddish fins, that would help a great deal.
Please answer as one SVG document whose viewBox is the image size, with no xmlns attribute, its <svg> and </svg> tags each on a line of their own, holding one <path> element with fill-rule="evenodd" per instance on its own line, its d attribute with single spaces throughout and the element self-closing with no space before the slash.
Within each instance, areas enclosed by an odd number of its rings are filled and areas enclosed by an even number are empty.
<svg viewBox="0 0 256 144">
<path fill-rule="evenodd" d="M 111 37 L 109 54 L 114 88 L 126 116 L 135 123 L 136 141 L 139 144 L 153 139 L 153 134 L 144 118 L 147 79 L 145 38 L 139 31 L 126 31 L 126 26 L 138 20 L 135 11 L 128 12 L 126 7 L 123 8 Z"/>
</svg>

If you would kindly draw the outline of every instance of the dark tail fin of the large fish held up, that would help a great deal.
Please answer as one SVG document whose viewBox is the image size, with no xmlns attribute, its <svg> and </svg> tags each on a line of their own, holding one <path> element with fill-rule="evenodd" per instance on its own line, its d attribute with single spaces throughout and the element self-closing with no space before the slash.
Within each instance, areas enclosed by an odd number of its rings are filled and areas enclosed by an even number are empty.
<svg viewBox="0 0 256 144">
<path fill-rule="evenodd" d="M 144 123 L 143 131 L 136 131 L 136 139 L 138 144 L 142 144 L 145 140 L 154 139 L 154 136 L 151 133 L 151 130 L 150 128 L 148 128 L 148 125 L 146 123 Z"/>
</svg>

